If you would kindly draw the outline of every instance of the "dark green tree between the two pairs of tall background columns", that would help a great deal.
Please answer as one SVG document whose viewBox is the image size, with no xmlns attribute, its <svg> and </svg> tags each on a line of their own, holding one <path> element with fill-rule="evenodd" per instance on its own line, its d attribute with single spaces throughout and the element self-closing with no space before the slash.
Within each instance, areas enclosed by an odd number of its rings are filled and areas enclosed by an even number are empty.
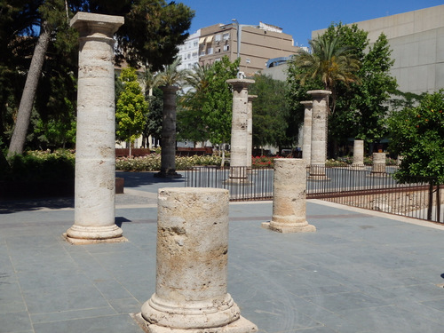
<svg viewBox="0 0 444 333">
<path fill-rule="evenodd" d="M 249 94 L 257 95 L 253 101 L 253 146 L 282 147 L 292 140 L 286 136 L 289 127 L 287 83 L 269 75 L 255 75 Z M 292 129 L 296 130 L 296 129 Z"/>
</svg>

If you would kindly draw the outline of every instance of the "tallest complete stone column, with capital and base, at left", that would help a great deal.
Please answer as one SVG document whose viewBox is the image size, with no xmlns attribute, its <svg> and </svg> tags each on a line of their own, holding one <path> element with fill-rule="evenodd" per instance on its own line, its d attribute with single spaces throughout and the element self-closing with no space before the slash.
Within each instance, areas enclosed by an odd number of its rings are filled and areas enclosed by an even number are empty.
<svg viewBox="0 0 444 333">
<path fill-rule="evenodd" d="M 79 31 L 73 243 L 123 241 L 115 225 L 115 31 L 123 17 L 77 12 Z"/>
</svg>

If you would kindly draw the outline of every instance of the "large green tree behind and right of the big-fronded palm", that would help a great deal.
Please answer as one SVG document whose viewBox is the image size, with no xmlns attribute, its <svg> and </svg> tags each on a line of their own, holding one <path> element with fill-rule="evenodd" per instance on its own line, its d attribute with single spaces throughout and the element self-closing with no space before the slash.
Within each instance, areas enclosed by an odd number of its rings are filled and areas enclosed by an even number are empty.
<svg viewBox="0 0 444 333">
<path fill-rule="evenodd" d="M 323 35 L 328 40 L 336 40 L 337 48 L 348 48 L 360 63 L 359 70 L 353 72 L 354 83 L 337 80 L 334 85 L 332 98 L 336 101 L 329 115 L 329 142 L 345 143 L 348 138 L 377 142 L 386 135 L 390 93 L 397 87 L 390 75 L 394 60 L 390 58 L 391 50 L 384 34 L 372 45 L 369 45 L 368 35 L 355 24 L 341 23 L 332 24 Z M 319 89 L 321 78 L 307 78 L 302 86 L 297 80 L 301 71 L 305 73 L 296 63 L 290 64 L 289 99 L 291 109 L 303 117 L 304 107 L 298 103 L 311 99 L 306 91 Z"/>
</svg>

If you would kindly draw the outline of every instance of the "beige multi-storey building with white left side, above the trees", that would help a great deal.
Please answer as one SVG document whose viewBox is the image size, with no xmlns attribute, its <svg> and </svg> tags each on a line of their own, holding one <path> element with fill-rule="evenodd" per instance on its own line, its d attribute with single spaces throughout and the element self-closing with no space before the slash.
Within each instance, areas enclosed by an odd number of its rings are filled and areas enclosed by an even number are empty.
<svg viewBox="0 0 444 333">
<path fill-rule="evenodd" d="M 191 42 L 192 49 L 187 46 Z M 186 44 L 179 47 L 179 56 L 186 67 L 186 61 L 196 59 L 196 44 L 201 65 L 212 64 L 223 56 L 234 61 L 239 56 L 240 71 L 246 75 L 253 75 L 266 68 L 269 59 L 288 57 L 299 49 L 293 45 L 292 36 L 284 34 L 279 27 L 262 22 L 258 26 L 251 26 L 234 21 L 231 24 L 215 24 L 199 29 L 186 40 Z"/>
</svg>

